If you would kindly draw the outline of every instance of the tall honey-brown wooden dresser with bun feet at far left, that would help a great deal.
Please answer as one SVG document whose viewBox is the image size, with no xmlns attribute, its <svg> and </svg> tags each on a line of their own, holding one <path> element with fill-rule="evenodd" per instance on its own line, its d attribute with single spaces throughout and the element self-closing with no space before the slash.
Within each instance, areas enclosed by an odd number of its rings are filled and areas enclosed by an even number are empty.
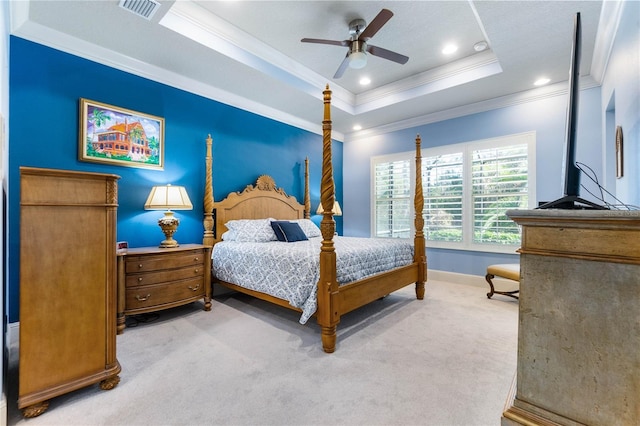
<svg viewBox="0 0 640 426">
<path fill-rule="evenodd" d="M 20 168 L 20 368 L 25 417 L 120 378 L 116 359 L 119 176 Z"/>
</svg>

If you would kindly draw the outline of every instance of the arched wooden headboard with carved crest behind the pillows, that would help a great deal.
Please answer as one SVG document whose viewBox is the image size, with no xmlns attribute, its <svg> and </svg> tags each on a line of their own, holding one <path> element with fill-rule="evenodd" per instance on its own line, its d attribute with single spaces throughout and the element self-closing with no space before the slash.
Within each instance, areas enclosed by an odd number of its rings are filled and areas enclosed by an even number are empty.
<svg viewBox="0 0 640 426">
<path fill-rule="evenodd" d="M 214 203 L 214 244 L 227 231 L 225 223 L 235 219 L 291 220 L 305 217 L 305 206 L 295 197 L 277 188 L 271 176 L 262 175 L 255 185 L 247 185 L 242 192 L 232 192 L 220 202 Z"/>
</svg>

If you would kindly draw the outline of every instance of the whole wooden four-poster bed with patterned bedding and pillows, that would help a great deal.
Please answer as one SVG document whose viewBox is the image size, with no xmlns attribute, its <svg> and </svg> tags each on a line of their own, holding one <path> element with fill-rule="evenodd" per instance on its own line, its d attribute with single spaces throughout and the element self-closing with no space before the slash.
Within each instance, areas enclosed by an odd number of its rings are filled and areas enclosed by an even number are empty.
<svg viewBox="0 0 640 426">
<path fill-rule="evenodd" d="M 324 214 L 320 228 L 318 229 L 309 220 L 311 206 L 308 160 L 305 161 L 304 204 L 298 203 L 294 197 L 278 189 L 273 179 L 266 175 L 260 176 L 255 185 L 248 185 L 244 191 L 231 193 L 224 200 L 214 202 L 211 170 L 212 140 L 209 136 L 207 138 L 203 244 L 213 247 L 213 283 L 298 310 L 302 312 L 301 323 L 306 322 L 311 315 L 315 315 L 321 328 L 323 349 L 331 353 L 335 350 L 336 327 L 341 315 L 409 284 L 415 284 L 416 297 L 423 299 L 427 265 L 420 173 L 416 174 L 414 198 L 416 231 L 413 241 L 334 235 L 335 221 L 332 208 L 335 191 L 331 163 L 331 91 L 328 85 L 323 94 L 320 202 Z M 420 164 L 420 137 L 418 136 L 416 138 L 417 170 L 421 170 Z M 276 223 L 276 220 L 279 222 Z M 288 223 L 292 222 L 297 225 L 292 225 L 296 229 L 290 233 Z M 300 230 L 303 235 L 299 235 Z M 280 241 L 272 241 L 274 239 L 272 237 L 260 239 L 262 235 L 267 235 L 269 232 L 273 234 L 274 231 L 278 237 L 284 239 Z M 248 236 L 248 239 L 243 239 L 242 235 Z M 297 241 L 291 235 L 294 237 L 297 235 L 303 241 Z M 296 242 L 286 243 L 292 239 Z M 249 240 L 252 242 L 247 243 L 246 241 Z M 356 240 L 365 240 L 364 249 L 360 247 L 363 241 Z M 293 254 L 285 257 L 287 256 L 284 254 L 285 249 L 293 250 Z M 375 257 L 376 251 L 379 252 L 378 257 Z M 234 266 L 240 266 L 239 275 L 234 275 L 232 271 Z M 293 271 L 295 278 L 280 279 L 277 276 L 279 268 Z M 345 270 L 348 271 L 345 272 Z M 253 286 L 244 281 L 255 281 L 256 285 Z M 301 294 L 303 290 L 295 286 L 284 290 L 287 283 L 281 284 L 280 281 L 288 281 L 289 284 L 290 281 L 298 281 L 297 284 L 306 288 L 307 293 Z"/>
</svg>

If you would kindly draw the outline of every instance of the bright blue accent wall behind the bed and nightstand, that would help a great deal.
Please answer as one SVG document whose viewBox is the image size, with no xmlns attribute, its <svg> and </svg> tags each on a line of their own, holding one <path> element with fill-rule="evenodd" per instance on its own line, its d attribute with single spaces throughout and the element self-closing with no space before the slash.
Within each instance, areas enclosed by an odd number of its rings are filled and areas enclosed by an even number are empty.
<svg viewBox="0 0 640 426">
<path fill-rule="evenodd" d="M 18 321 L 20 254 L 20 166 L 112 173 L 118 187 L 118 240 L 130 247 L 164 239 L 161 212 L 143 204 L 155 184 L 183 185 L 192 211 L 177 211 L 175 239 L 201 243 L 206 154 L 213 138 L 214 199 L 241 191 L 262 174 L 303 201 L 304 159 L 310 160 L 312 214 L 320 198 L 322 136 L 202 96 L 141 78 L 15 36 L 10 39 L 9 150 L 9 321 Z M 324 88 L 319 87 L 321 92 Z M 165 119 L 164 170 L 104 165 L 78 160 L 79 99 Z M 318 101 L 318 123 L 322 122 Z M 342 148 L 332 144 L 336 198 L 342 203 Z M 319 223 L 320 216 L 312 217 Z M 336 217 L 339 233 L 342 218 Z M 87 230 L 90 232 L 90 230 Z M 34 301 L 37 303 L 37 301 Z"/>
</svg>

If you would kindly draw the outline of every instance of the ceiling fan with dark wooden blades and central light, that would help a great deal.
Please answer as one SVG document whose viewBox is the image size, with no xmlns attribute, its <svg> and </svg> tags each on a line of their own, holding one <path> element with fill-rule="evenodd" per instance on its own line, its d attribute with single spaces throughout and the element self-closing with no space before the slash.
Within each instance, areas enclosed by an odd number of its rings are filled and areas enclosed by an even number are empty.
<svg viewBox="0 0 640 426">
<path fill-rule="evenodd" d="M 338 67 L 333 78 L 340 78 L 344 74 L 347 67 L 360 69 L 367 65 L 367 53 L 380 58 L 388 59 L 399 64 L 406 64 L 409 60 L 408 56 L 401 55 L 391 50 L 369 44 L 371 39 L 384 24 L 393 16 L 393 12 L 388 9 L 382 9 L 373 21 L 367 25 L 364 19 L 354 19 L 349 23 L 349 40 L 324 40 L 318 38 L 303 38 L 303 43 L 330 44 L 333 46 L 345 46 L 349 48 L 347 56 Z"/>
</svg>

